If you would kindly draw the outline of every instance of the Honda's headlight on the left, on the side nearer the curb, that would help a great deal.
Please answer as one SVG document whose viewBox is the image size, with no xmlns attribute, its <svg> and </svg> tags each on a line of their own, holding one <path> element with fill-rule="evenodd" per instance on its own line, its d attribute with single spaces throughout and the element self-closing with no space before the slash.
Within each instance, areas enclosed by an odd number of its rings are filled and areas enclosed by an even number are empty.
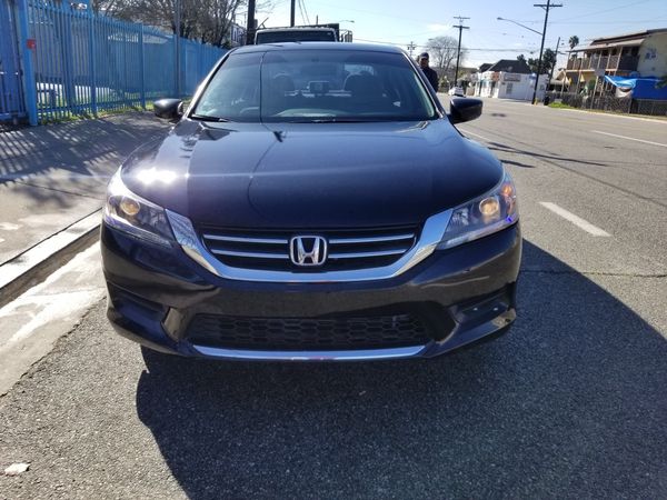
<svg viewBox="0 0 667 500">
<path fill-rule="evenodd" d="M 170 247 L 173 240 L 165 209 L 135 194 L 120 178 L 120 169 L 107 188 L 104 222 L 152 243 Z"/>
</svg>

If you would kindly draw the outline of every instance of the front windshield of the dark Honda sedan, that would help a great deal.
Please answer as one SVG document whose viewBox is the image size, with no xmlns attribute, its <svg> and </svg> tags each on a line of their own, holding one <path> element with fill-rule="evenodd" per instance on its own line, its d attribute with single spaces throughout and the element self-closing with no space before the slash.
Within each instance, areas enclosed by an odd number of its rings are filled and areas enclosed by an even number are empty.
<svg viewBox="0 0 667 500">
<path fill-rule="evenodd" d="M 424 83 L 402 54 L 308 49 L 231 54 L 191 114 L 243 122 L 437 117 Z"/>
</svg>

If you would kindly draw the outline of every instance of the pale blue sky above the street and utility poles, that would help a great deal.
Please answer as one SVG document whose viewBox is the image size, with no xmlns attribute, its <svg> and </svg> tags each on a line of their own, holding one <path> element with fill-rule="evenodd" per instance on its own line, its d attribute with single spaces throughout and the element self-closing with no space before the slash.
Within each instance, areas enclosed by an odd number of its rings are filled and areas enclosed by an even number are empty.
<svg viewBox="0 0 667 500">
<path fill-rule="evenodd" d="M 306 16 L 299 9 L 302 3 Z M 341 22 L 341 28 L 352 30 L 355 41 L 392 43 L 406 49 L 414 41 L 421 49 L 429 38 L 448 34 L 458 37 L 452 28 L 455 16 L 464 21 L 462 44 L 468 48 L 466 66 L 479 66 L 498 59 L 515 59 L 519 53 L 537 57 L 540 37 L 527 29 L 498 17 L 515 20 L 538 32 L 544 26 L 544 10 L 532 7 L 546 0 L 464 0 L 445 2 L 436 0 L 297 0 L 297 24 L 306 22 Z M 646 29 L 667 28 L 667 0 L 556 0 L 563 7 L 551 9 L 545 47 L 568 49 L 570 36 L 579 37 L 581 44 L 596 37 L 613 36 Z M 258 12 L 259 22 L 266 27 L 289 26 L 289 0 L 275 2 L 271 12 Z M 268 19 L 267 19 L 268 18 Z M 349 22 L 350 20 L 355 21 Z M 531 52 L 534 52 L 531 54 Z M 560 56 L 563 64 L 566 56 Z"/>
</svg>

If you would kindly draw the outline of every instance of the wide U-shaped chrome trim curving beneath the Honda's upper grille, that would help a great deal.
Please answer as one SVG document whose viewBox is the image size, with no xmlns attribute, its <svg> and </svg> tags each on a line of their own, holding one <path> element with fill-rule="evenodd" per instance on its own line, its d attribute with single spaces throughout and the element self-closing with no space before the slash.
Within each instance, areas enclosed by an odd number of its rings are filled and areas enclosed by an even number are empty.
<svg viewBox="0 0 667 500">
<path fill-rule="evenodd" d="M 451 218 L 451 210 L 446 210 L 429 217 L 426 220 L 424 228 L 421 229 L 420 237 L 416 243 L 412 244 L 407 252 L 400 256 L 399 259 L 388 266 L 328 271 L 322 269 L 313 269 L 312 271 L 295 272 L 291 270 L 277 271 L 246 269 L 225 264 L 207 249 L 197 234 L 197 231 L 195 230 L 190 219 L 170 210 L 166 211 L 178 243 L 181 246 L 186 254 L 188 254 L 193 261 L 198 262 L 205 269 L 223 279 L 281 283 L 372 281 L 397 277 L 417 266 L 436 250 L 436 247 L 442 239 L 445 229 L 449 223 L 449 219 Z"/>
</svg>

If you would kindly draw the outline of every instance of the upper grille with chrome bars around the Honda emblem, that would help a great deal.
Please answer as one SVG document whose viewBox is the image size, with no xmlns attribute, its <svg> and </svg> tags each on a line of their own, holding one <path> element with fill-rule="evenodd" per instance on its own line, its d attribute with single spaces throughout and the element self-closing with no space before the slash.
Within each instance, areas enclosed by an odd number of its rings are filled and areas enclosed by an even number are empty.
<svg viewBox="0 0 667 500">
<path fill-rule="evenodd" d="M 271 271 L 321 272 L 370 269 L 390 266 L 410 250 L 417 240 L 414 227 L 347 231 L 232 231 L 201 228 L 208 250 L 222 263 L 235 268 Z M 290 258 L 290 240 L 296 236 L 318 236 L 327 241 L 327 259 L 317 267 L 300 267 Z"/>
</svg>

